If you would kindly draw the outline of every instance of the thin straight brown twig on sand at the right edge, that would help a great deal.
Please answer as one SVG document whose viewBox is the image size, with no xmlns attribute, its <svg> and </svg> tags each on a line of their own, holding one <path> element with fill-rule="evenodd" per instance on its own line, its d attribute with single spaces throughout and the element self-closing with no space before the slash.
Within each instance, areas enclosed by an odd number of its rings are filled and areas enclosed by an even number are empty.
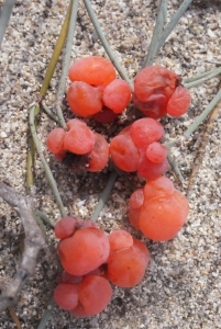
<svg viewBox="0 0 221 329">
<path fill-rule="evenodd" d="M 221 82 L 220 82 L 219 88 L 221 88 Z M 214 123 L 214 120 L 216 120 L 216 117 L 218 115 L 218 112 L 220 110 L 220 105 L 221 105 L 221 101 L 214 106 L 214 109 L 211 111 L 210 116 L 208 118 L 206 131 L 205 131 L 203 136 L 201 138 L 201 144 L 199 146 L 199 149 L 198 149 L 198 152 L 197 152 L 197 158 L 195 159 L 191 175 L 189 178 L 189 183 L 188 183 L 188 188 L 187 188 L 187 197 L 188 198 L 189 198 L 190 193 L 194 189 L 195 181 L 196 181 L 199 168 L 202 163 L 202 159 L 203 159 L 203 156 L 205 156 L 205 149 L 206 149 L 208 139 L 212 134 L 213 123 Z"/>
</svg>

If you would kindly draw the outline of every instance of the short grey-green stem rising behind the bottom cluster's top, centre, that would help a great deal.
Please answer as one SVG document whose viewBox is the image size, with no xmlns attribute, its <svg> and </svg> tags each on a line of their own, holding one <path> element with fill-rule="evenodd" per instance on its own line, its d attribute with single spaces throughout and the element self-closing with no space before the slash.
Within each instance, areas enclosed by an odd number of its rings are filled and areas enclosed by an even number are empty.
<svg viewBox="0 0 221 329">
<path fill-rule="evenodd" d="M 108 183 L 107 183 L 104 190 L 103 190 L 102 193 L 101 193 L 101 196 L 100 196 L 100 200 L 99 200 L 99 202 L 98 202 L 98 204 L 97 204 L 97 207 L 96 207 L 96 209 L 95 209 L 95 213 L 93 213 L 92 216 L 91 216 L 91 219 L 92 219 L 92 220 L 96 222 L 96 220 L 98 219 L 98 217 L 99 217 L 99 215 L 100 215 L 100 212 L 101 212 L 101 209 L 103 208 L 103 206 L 104 206 L 104 204 L 106 204 L 106 202 L 107 202 L 107 200 L 108 200 L 108 197 L 109 197 L 109 195 L 110 195 L 110 192 L 111 192 L 111 190 L 112 190 L 112 188 L 113 188 L 113 184 L 114 184 L 117 178 L 118 178 L 118 172 L 117 172 L 115 170 L 113 170 L 113 171 L 111 172 L 111 174 L 110 174 L 110 178 L 109 178 L 109 180 L 108 180 Z"/>
</svg>

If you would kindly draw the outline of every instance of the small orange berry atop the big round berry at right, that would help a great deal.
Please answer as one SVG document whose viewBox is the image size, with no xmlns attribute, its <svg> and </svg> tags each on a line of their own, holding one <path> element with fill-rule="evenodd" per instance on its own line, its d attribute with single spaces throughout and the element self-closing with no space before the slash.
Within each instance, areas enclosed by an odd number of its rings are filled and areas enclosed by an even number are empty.
<svg viewBox="0 0 221 329">
<path fill-rule="evenodd" d="M 145 202 L 152 197 L 172 195 L 174 191 L 174 183 L 166 177 L 148 180 L 143 189 Z"/>
</svg>

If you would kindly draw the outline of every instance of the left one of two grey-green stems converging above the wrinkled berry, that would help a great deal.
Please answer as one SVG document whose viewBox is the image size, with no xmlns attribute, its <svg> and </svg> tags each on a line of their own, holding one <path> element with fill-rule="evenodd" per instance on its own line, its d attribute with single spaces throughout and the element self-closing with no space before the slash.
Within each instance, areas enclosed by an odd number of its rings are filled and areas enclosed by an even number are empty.
<svg viewBox="0 0 221 329">
<path fill-rule="evenodd" d="M 148 49 L 147 57 L 143 64 L 143 67 L 153 65 L 154 57 L 156 56 L 158 39 L 162 36 L 162 33 L 164 31 L 164 24 L 166 22 L 167 2 L 168 2 L 168 0 L 162 0 L 159 3 L 158 14 L 157 14 L 157 19 L 156 19 L 155 26 L 154 26 L 154 33 L 152 36 L 151 46 Z"/>
</svg>

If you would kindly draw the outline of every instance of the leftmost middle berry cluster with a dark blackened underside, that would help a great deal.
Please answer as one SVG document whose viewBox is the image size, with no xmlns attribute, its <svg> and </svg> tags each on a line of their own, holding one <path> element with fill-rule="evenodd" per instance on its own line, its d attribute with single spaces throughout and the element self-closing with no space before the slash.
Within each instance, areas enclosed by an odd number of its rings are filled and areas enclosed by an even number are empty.
<svg viewBox="0 0 221 329">
<path fill-rule="evenodd" d="M 47 148 L 71 170 L 100 171 L 109 161 L 109 145 L 102 135 L 93 133 L 81 120 L 67 122 L 53 129 L 46 139 Z"/>
</svg>

